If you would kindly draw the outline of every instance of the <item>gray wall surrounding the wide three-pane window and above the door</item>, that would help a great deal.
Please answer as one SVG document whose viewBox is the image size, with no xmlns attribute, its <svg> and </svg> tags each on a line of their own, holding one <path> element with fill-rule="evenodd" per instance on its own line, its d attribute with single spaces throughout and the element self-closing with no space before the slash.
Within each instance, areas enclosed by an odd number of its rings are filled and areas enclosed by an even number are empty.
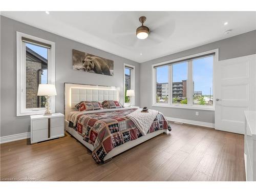
<svg viewBox="0 0 256 192">
<path fill-rule="evenodd" d="M 140 65 L 140 106 L 161 111 L 167 117 L 214 123 L 214 111 L 163 108 L 152 106 L 152 64 L 181 58 L 219 48 L 219 60 L 241 57 L 256 53 L 256 30 L 226 38 L 210 44 L 167 55 Z M 199 116 L 195 112 L 199 111 Z"/>
</svg>

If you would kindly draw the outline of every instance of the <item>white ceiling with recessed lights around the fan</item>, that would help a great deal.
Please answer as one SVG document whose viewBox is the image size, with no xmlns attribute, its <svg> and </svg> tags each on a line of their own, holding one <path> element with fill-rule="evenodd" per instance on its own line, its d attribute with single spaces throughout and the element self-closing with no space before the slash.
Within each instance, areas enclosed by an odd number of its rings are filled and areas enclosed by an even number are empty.
<svg viewBox="0 0 256 192">
<path fill-rule="evenodd" d="M 25 24 L 144 62 L 256 29 L 256 12 L 1 12 Z M 147 39 L 136 37 L 146 16 Z M 228 25 L 224 25 L 228 22 Z M 231 33 L 224 34 L 232 29 Z M 142 53 L 142 55 L 140 55 Z"/>
</svg>

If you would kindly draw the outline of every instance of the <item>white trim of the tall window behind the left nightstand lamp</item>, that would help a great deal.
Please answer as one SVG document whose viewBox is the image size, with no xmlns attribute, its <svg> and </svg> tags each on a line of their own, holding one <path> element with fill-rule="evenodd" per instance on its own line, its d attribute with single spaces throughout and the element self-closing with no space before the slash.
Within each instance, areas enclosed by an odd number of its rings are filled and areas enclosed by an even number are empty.
<svg viewBox="0 0 256 192">
<path fill-rule="evenodd" d="M 17 116 L 44 114 L 45 108 L 26 109 L 26 46 L 22 42 L 22 37 L 30 38 L 36 41 L 51 45 L 48 49 L 48 83 L 55 84 L 55 42 L 34 37 L 25 33 L 16 33 L 17 49 Z M 50 110 L 55 113 L 55 96 L 50 97 Z"/>
</svg>

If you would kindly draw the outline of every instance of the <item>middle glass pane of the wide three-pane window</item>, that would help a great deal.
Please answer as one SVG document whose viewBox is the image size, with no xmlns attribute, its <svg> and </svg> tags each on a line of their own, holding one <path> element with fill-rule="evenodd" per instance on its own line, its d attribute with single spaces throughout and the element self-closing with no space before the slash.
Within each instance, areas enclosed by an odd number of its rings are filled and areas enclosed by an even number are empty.
<svg viewBox="0 0 256 192">
<path fill-rule="evenodd" d="M 173 67 L 173 103 L 187 104 L 187 62 Z"/>
</svg>

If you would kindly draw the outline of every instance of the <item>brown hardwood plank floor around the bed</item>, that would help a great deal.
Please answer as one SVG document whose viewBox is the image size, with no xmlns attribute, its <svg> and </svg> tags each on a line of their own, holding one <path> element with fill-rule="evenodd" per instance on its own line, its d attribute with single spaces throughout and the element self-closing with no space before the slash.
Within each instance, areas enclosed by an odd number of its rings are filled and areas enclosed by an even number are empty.
<svg viewBox="0 0 256 192">
<path fill-rule="evenodd" d="M 1 144 L 1 180 L 245 181 L 243 135 L 171 123 L 161 134 L 98 165 L 66 136 L 34 145 Z"/>
</svg>

